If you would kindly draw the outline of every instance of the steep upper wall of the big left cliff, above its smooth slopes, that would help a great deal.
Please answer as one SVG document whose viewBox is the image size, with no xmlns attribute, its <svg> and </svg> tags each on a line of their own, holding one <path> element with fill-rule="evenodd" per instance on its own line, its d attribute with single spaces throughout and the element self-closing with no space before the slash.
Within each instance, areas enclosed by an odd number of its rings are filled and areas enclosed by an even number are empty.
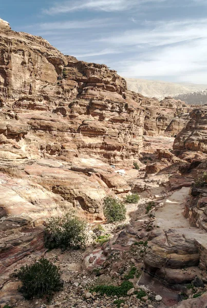
<svg viewBox="0 0 207 308">
<path fill-rule="evenodd" d="M 30 155 L 71 161 L 81 152 L 111 164 L 138 158 L 143 109 L 126 99 L 126 82 L 116 71 L 64 56 L 41 37 L 1 25 L 2 110 L 18 113 L 12 124 L 21 122 L 22 137 L 29 132 L 45 139 Z M 5 125 L 1 130 L 8 135 Z"/>
</svg>

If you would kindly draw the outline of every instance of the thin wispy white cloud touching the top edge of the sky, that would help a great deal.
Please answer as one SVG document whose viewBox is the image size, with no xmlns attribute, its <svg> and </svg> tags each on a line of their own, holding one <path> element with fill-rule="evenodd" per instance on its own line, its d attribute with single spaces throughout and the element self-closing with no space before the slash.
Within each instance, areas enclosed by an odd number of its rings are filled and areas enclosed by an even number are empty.
<svg viewBox="0 0 207 308">
<path fill-rule="evenodd" d="M 125 11 L 146 3 L 162 3 L 168 0 L 76 0 L 55 3 L 43 10 L 49 15 L 68 13 L 80 10 L 103 10 L 106 12 Z"/>
</svg>

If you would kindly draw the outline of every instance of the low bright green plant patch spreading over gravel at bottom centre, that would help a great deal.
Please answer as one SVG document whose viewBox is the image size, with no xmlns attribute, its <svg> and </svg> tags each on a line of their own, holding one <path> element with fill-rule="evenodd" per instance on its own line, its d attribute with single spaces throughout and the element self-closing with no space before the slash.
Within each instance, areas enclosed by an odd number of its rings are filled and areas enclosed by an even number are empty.
<svg viewBox="0 0 207 308">
<path fill-rule="evenodd" d="M 106 294 L 107 296 L 127 296 L 127 292 L 133 288 L 133 283 L 130 281 L 124 281 L 120 286 L 115 285 L 97 285 L 90 289 L 90 292 L 100 293 L 100 295 Z"/>
</svg>

